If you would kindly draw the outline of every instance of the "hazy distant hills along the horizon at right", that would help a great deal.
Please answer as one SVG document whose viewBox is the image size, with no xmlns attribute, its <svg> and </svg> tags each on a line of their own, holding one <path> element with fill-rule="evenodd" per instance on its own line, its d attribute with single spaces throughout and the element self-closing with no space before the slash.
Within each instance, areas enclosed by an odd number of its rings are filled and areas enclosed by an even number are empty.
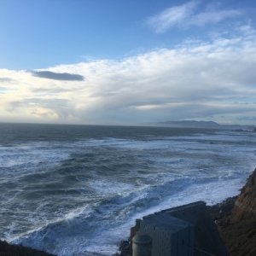
<svg viewBox="0 0 256 256">
<path fill-rule="evenodd" d="M 182 121 L 163 121 L 158 122 L 156 125 L 180 127 L 180 128 L 207 128 L 207 129 L 229 129 L 229 130 L 246 130 L 252 131 L 253 127 L 248 125 L 220 125 L 213 121 L 195 121 L 195 120 L 182 120 Z"/>
</svg>

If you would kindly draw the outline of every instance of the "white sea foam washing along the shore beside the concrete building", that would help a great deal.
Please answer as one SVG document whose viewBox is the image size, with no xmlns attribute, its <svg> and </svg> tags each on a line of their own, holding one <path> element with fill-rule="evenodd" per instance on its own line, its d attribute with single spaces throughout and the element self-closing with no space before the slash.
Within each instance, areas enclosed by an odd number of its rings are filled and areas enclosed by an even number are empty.
<svg viewBox="0 0 256 256">
<path fill-rule="evenodd" d="M 242 179 L 243 180 L 243 179 Z M 239 189 L 243 182 L 241 179 L 231 180 L 229 182 L 215 182 L 201 185 L 192 185 L 188 189 L 184 189 L 175 196 L 170 196 L 165 201 L 160 202 L 159 205 L 150 206 L 143 212 L 136 212 L 131 218 L 127 219 L 127 222 L 113 227 L 110 230 L 102 230 L 102 234 L 96 237 L 96 241 L 92 245 L 86 247 L 88 254 L 102 253 L 103 255 L 113 255 L 117 250 L 117 244 L 121 239 L 125 239 L 129 236 L 129 230 L 131 226 L 135 224 L 137 218 L 143 218 L 148 214 L 159 212 L 171 207 L 181 206 L 193 201 L 206 201 L 207 205 L 212 205 L 223 201 L 225 198 L 239 193 Z M 83 250 L 82 250 L 83 251 Z M 90 253 L 91 254 L 90 254 Z M 61 255 L 69 255 L 64 253 Z"/>
</svg>

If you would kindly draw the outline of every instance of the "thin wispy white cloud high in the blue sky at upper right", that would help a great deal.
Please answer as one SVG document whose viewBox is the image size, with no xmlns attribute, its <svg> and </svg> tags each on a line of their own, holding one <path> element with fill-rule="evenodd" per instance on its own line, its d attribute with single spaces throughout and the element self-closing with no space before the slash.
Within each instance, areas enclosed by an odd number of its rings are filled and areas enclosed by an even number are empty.
<svg viewBox="0 0 256 256">
<path fill-rule="evenodd" d="M 160 14 L 149 17 L 146 22 L 154 32 L 166 32 L 174 26 L 206 26 L 242 15 L 239 9 L 218 9 L 218 6 L 207 5 L 201 9 L 201 1 L 191 1 L 182 5 L 164 9 Z"/>
</svg>

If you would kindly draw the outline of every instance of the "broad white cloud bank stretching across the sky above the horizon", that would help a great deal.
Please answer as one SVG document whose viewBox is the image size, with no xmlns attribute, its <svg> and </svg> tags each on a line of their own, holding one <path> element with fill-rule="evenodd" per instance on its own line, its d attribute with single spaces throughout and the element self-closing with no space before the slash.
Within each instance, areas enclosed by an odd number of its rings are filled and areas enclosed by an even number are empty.
<svg viewBox="0 0 256 256">
<path fill-rule="evenodd" d="M 244 30 L 236 38 L 190 41 L 120 61 L 45 69 L 79 74 L 84 80 L 41 79 L 26 71 L 2 69 L 0 119 L 84 124 L 168 119 L 253 122 L 256 34 Z"/>
</svg>

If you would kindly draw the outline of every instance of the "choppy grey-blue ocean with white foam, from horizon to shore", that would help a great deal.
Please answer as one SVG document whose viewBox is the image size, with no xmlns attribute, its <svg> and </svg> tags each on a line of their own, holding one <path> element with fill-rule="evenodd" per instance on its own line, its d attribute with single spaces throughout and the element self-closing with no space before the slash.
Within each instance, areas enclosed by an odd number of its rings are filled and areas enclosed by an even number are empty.
<svg viewBox="0 0 256 256">
<path fill-rule="evenodd" d="M 256 133 L 0 124 L 0 239 L 57 255 L 112 255 L 136 218 L 237 195 Z"/>
</svg>

